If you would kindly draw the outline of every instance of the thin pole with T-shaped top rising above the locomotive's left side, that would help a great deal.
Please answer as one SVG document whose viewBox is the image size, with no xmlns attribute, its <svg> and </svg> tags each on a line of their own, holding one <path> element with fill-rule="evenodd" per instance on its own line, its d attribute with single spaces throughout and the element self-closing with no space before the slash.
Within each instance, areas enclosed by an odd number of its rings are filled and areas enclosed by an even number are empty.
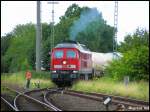
<svg viewBox="0 0 150 112">
<path fill-rule="evenodd" d="M 53 27 L 52 27 L 52 30 L 51 30 L 51 52 L 52 52 L 52 49 L 53 49 L 53 47 L 54 47 L 54 4 L 58 4 L 58 2 L 54 2 L 54 1 L 52 1 L 52 2 L 48 2 L 48 4 L 52 4 L 52 25 L 53 25 Z"/>
</svg>

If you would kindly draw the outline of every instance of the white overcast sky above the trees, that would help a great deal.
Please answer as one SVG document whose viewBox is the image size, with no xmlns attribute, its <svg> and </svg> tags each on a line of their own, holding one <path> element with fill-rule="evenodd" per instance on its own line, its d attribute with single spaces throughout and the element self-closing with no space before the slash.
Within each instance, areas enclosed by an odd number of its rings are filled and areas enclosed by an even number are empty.
<svg viewBox="0 0 150 112">
<path fill-rule="evenodd" d="M 102 12 L 107 24 L 114 25 L 114 1 L 58 1 L 55 8 L 55 22 L 64 15 L 67 8 L 76 3 L 80 7 L 96 7 Z M 41 2 L 42 23 L 50 23 L 52 5 L 48 1 Z M 36 1 L 2 1 L 1 2 L 1 36 L 11 32 L 16 25 L 36 23 Z M 119 1 L 118 2 L 118 42 L 124 36 L 132 34 L 137 27 L 149 30 L 149 1 Z"/>
</svg>

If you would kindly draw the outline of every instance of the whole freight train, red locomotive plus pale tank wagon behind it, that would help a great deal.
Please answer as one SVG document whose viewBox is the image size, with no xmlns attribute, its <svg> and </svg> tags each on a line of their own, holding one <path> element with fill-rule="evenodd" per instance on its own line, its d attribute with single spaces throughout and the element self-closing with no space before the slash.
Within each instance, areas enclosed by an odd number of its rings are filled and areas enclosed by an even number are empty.
<svg viewBox="0 0 150 112">
<path fill-rule="evenodd" d="M 51 79 L 57 85 L 71 85 L 77 79 L 91 79 L 101 75 L 112 58 L 113 53 L 91 52 L 76 41 L 63 41 L 52 49 Z"/>
</svg>

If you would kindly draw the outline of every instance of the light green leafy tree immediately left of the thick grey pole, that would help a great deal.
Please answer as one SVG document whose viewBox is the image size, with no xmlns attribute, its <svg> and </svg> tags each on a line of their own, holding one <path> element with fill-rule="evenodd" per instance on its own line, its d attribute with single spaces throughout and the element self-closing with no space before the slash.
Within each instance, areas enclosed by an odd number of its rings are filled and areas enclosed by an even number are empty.
<svg viewBox="0 0 150 112">
<path fill-rule="evenodd" d="M 4 56 L 5 63 L 9 65 L 9 72 L 24 70 L 24 63 L 29 65 L 26 69 L 31 68 L 30 58 L 27 57 L 32 54 L 31 49 L 35 46 L 35 25 L 31 23 L 18 25 L 12 35 L 13 38 Z"/>
</svg>

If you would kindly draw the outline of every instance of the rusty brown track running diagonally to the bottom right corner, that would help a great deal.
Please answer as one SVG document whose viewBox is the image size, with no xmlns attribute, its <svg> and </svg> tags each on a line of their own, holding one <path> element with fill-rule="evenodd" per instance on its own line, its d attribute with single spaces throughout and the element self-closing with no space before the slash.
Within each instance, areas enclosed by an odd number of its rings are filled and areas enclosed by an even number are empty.
<svg viewBox="0 0 150 112">
<path fill-rule="evenodd" d="M 87 93 L 74 90 L 67 90 L 64 93 L 101 102 L 104 102 L 104 100 L 109 97 L 111 98 L 111 102 L 118 106 L 117 108 L 122 108 L 125 110 L 149 110 L 149 102 L 146 101 L 129 99 L 120 96 L 106 95 L 101 93 Z"/>
</svg>

